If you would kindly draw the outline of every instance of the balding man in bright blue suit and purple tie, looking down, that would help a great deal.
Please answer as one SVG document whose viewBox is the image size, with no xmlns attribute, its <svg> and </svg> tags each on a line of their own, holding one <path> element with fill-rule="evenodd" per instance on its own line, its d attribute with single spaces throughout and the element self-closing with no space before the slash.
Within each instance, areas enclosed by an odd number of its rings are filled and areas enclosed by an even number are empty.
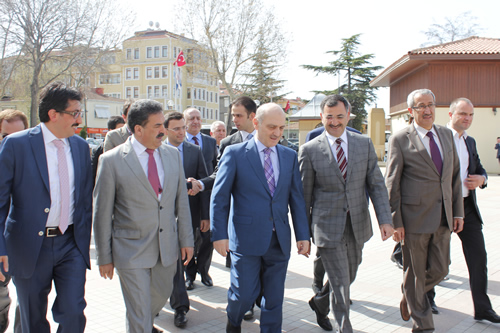
<svg viewBox="0 0 500 333">
<path fill-rule="evenodd" d="M 299 254 L 309 255 L 310 235 L 297 153 L 278 145 L 285 113 L 277 104 L 264 104 L 254 125 L 256 137 L 227 147 L 222 155 L 212 193 L 211 231 L 217 252 L 231 255 L 226 331 L 241 332 L 243 315 L 262 284 L 261 332 L 276 333 L 281 332 L 291 250 L 289 207 Z"/>
</svg>

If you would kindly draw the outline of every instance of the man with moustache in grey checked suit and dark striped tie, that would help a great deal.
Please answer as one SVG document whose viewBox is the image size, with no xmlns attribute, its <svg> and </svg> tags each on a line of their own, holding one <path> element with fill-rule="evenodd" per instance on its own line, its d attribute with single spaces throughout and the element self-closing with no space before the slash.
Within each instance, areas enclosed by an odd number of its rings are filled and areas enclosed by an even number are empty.
<svg viewBox="0 0 500 333">
<path fill-rule="evenodd" d="M 326 131 L 301 146 L 299 164 L 313 241 L 330 282 L 332 309 L 339 331 L 349 333 L 350 284 L 361 263 L 364 243 L 373 235 L 365 189 L 372 198 L 383 240 L 392 235 L 393 228 L 373 143 L 345 130 L 349 102 L 331 95 L 323 100 L 321 110 Z M 313 297 L 309 305 L 318 324 L 332 330 L 325 300 L 328 303 L 328 294 Z"/>
</svg>

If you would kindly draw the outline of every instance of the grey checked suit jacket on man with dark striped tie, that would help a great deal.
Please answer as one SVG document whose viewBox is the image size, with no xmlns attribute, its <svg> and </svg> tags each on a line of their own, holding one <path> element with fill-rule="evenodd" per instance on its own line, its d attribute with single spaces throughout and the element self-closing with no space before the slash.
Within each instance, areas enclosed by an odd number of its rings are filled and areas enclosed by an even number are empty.
<svg viewBox="0 0 500 333">
<path fill-rule="evenodd" d="M 299 165 L 304 198 L 314 242 L 319 247 L 340 242 L 350 212 L 354 237 L 363 245 L 373 235 L 368 199 L 372 198 L 379 224 L 392 224 L 384 177 L 377 165 L 373 143 L 346 132 L 348 160 L 342 176 L 325 132 L 300 147 Z"/>
</svg>

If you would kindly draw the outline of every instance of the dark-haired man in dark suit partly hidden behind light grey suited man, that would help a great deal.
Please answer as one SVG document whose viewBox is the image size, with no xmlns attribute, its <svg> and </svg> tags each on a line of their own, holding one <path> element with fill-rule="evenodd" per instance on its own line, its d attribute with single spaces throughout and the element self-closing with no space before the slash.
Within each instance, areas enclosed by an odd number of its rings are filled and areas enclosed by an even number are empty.
<svg viewBox="0 0 500 333">
<path fill-rule="evenodd" d="M 170 112 L 166 115 L 165 128 L 167 129 L 166 144 L 179 150 L 186 178 L 204 178 L 207 174 L 203 154 L 199 146 L 185 141 L 186 124 L 180 112 Z M 188 189 L 190 184 L 188 184 Z M 210 229 L 209 219 L 210 192 L 205 191 L 194 196 L 189 196 L 189 209 L 193 230 L 200 229 L 206 232 Z M 177 273 L 174 277 L 174 289 L 170 296 L 170 306 L 175 310 L 174 324 L 185 327 L 187 324 L 186 313 L 189 311 L 189 298 L 184 280 L 182 260 L 177 261 Z"/>
</svg>

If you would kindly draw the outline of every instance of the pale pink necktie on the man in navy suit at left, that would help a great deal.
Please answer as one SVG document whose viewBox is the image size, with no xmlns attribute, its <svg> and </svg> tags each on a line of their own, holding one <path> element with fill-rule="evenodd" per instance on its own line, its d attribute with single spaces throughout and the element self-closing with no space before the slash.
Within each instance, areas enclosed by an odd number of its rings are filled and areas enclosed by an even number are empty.
<svg viewBox="0 0 500 333">
<path fill-rule="evenodd" d="M 69 173 L 64 143 L 61 140 L 52 141 L 57 147 L 57 171 L 59 173 L 59 192 L 61 195 L 61 215 L 59 217 L 59 230 L 64 234 L 69 224 Z"/>
</svg>

